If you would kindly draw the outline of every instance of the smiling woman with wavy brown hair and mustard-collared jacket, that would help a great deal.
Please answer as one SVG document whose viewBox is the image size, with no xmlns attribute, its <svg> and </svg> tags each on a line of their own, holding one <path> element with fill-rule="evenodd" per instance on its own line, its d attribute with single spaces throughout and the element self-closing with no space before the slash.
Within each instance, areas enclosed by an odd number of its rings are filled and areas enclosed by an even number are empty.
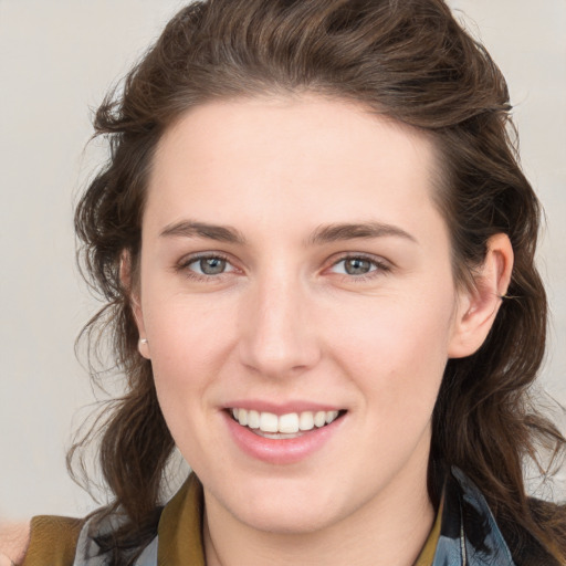
<svg viewBox="0 0 566 566">
<path fill-rule="evenodd" d="M 76 212 L 128 378 L 115 502 L 35 517 L 23 564 L 564 564 L 564 507 L 523 484 L 566 441 L 527 397 L 546 301 L 509 111 L 440 0 L 181 10 L 99 108 Z"/>
</svg>

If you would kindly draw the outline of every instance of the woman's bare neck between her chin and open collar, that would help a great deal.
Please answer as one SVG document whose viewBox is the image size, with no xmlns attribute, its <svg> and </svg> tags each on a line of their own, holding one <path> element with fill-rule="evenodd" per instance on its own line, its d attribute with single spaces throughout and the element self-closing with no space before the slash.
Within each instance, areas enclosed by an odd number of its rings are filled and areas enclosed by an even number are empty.
<svg viewBox="0 0 566 566">
<path fill-rule="evenodd" d="M 413 483 L 399 478 L 340 521 L 316 532 L 273 533 L 239 521 L 205 491 L 205 549 L 208 566 L 411 566 L 431 531 L 426 469 Z"/>
</svg>

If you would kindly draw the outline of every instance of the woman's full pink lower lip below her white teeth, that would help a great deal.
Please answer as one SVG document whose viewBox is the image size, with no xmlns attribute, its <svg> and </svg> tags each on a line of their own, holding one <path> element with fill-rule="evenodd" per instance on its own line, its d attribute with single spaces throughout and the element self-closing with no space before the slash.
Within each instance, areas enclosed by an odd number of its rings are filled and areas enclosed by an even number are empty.
<svg viewBox="0 0 566 566">
<path fill-rule="evenodd" d="M 308 458 L 331 440 L 344 420 L 342 416 L 325 427 L 303 432 L 301 437 L 271 439 L 255 434 L 248 427 L 239 424 L 227 411 L 222 412 L 240 450 L 256 460 L 277 465 L 293 464 Z"/>
</svg>

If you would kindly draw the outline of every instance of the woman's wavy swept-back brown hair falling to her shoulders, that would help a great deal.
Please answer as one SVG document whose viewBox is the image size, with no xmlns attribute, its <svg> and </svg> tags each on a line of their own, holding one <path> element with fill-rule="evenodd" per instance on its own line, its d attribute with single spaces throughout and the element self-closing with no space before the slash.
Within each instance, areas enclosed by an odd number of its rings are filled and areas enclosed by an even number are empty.
<svg viewBox="0 0 566 566">
<path fill-rule="evenodd" d="M 214 98 L 315 92 L 361 103 L 428 132 L 439 149 L 438 205 L 452 235 L 454 274 L 473 282 L 488 239 L 509 234 L 514 254 L 510 298 L 478 353 L 449 360 L 433 413 L 429 492 L 451 465 L 483 491 L 505 536 L 521 548 L 526 533 L 566 554 L 564 509 L 530 504 L 525 459 L 541 448 L 558 457 L 558 430 L 528 395 L 546 332 L 546 297 L 534 264 L 539 205 L 510 139 L 505 81 L 481 44 L 442 0 L 209 0 L 181 10 L 156 44 L 108 95 L 95 118 L 107 135 L 108 164 L 76 210 L 86 272 L 106 302 L 87 325 L 111 333 L 127 390 L 95 430 L 99 462 L 126 526 L 101 544 L 126 563 L 125 549 L 155 536 L 156 505 L 174 441 L 157 401 L 120 260 L 135 274 L 151 157 L 167 127 Z M 77 442 L 72 461 L 94 432 Z M 541 469 L 542 470 L 542 469 Z M 122 560 L 122 562 L 120 562 Z"/>
</svg>

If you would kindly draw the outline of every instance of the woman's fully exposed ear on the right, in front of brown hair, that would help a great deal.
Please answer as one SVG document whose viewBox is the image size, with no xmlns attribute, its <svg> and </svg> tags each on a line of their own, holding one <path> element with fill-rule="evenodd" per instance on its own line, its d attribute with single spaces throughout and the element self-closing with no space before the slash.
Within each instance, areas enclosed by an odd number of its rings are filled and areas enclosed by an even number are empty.
<svg viewBox="0 0 566 566">
<path fill-rule="evenodd" d="M 459 293 L 449 358 L 470 356 L 484 343 L 507 292 L 512 271 L 513 248 L 507 235 L 492 235 L 474 289 Z"/>
</svg>

